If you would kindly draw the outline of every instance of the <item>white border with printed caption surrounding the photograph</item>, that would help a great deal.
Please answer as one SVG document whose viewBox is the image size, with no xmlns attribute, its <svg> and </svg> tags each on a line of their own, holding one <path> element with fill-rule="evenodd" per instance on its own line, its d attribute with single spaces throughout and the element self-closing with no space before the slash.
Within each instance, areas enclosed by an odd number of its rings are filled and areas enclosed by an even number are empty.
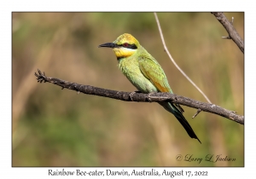
<svg viewBox="0 0 256 179">
<path fill-rule="evenodd" d="M 245 11 L 245 168 L 167 168 L 168 170 L 207 170 L 211 178 L 221 176 L 242 177 L 253 174 L 255 162 L 255 121 L 253 104 L 255 89 L 255 5 L 241 1 L 3 1 L 1 3 L 1 60 L 0 60 L 0 177 L 14 178 L 48 178 L 48 170 L 61 170 L 62 168 L 12 168 L 11 167 L 11 12 L 13 11 Z M 253 2 L 253 1 L 251 1 Z M 236 150 L 236 148 L 234 148 Z M 76 170 L 77 168 L 65 168 Z M 79 168 L 78 168 L 79 169 Z M 106 170 L 108 168 L 80 168 L 80 170 Z M 110 168 L 110 170 L 123 170 L 124 168 Z M 133 170 L 134 168 L 125 168 Z M 136 170 L 149 170 L 149 168 L 135 168 Z M 165 168 L 154 168 L 164 170 Z M 59 178 L 61 176 L 55 176 Z M 67 176 L 66 176 L 67 177 Z M 85 177 L 85 176 L 82 176 Z M 86 176 L 89 177 L 90 176 Z M 125 176 L 111 176 L 109 178 L 125 178 Z M 168 176 L 170 178 L 170 176 Z M 187 176 L 185 176 L 187 177 Z M 202 176 L 201 176 L 202 177 Z M 71 178 L 71 177 L 68 177 Z M 73 178 L 73 177 L 72 177 Z M 81 178 L 81 176 L 80 176 Z M 93 177 L 97 178 L 97 177 Z M 140 177 L 141 178 L 141 177 Z M 195 178 L 195 177 L 194 177 Z"/>
</svg>

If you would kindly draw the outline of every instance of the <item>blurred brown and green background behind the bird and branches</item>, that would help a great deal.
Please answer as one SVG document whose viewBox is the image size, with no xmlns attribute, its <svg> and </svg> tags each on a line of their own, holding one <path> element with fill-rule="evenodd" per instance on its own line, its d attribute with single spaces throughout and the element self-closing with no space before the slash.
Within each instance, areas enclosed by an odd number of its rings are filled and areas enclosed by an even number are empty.
<svg viewBox="0 0 256 179">
<path fill-rule="evenodd" d="M 244 37 L 244 14 L 234 26 Z M 38 84 L 34 72 L 109 90 L 136 90 L 111 49 L 131 33 L 166 72 L 177 95 L 204 97 L 169 60 L 153 13 L 13 13 L 13 166 L 243 166 L 244 126 L 183 107 L 202 144 L 156 103 L 117 101 Z M 244 115 L 244 55 L 210 13 L 158 13 L 166 45 L 183 71 L 220 107 Z M 236 161 L 177 161 L 177 154 Z"/>
</svg>

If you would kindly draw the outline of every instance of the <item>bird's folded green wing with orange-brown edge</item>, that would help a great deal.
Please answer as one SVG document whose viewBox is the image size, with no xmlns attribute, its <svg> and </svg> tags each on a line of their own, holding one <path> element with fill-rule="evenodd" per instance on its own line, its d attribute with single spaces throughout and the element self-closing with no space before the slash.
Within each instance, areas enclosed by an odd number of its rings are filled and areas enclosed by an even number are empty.
<svg viewBox="0 0 256 179">
<path fill-rule="evenodd" d="M 148 57 L 140 55 L 138 57 L 138 62 L 143 75 L 148 78 L 160 92 L 172 93 L 172 89 L 168 84 L 165 72 L 152 56 Z"/>
</svg>

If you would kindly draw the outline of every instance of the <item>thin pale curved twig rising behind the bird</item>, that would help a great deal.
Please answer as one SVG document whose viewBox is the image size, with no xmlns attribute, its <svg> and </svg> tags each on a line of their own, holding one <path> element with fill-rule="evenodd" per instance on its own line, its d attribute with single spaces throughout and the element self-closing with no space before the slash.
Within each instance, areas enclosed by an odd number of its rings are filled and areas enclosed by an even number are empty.
<svg viewBox="0 0 256 179">
<path fill-rule="evenodd" d="M 177 67 L 177 69 L 179 70 L 179 72 L 181 72 L 181 73 L 183 74 L 183 76 L 184 76 L 185 78 L 187 78 L 187 79 L 189 80 L 189 82 L 190 82 L 191 84 L 193 84 L 197 90 L 199 90 L 199 92 L 201 93 L 201 95 L 203 95 L 203 96 L 207 99 L 207 101 L 208 101 L 209 103 L 212 103 L 212 102 L 207 98 L 207 95 L 205 95 L 205 94 L 200 90 L 200 88 L 198 88 L 198 87 L 195 85 L 195 83 L 185 74 L 185 72 L 183 72 L 183 70 L 182 70 L 179 66 L 177 66 L 177 63 L 172 59 L 172 55 L 170 54 L 169 50 L 168 50 L 167 47 L 166 47 L 166 42 L 165 42 L 165 39 L 164 39 L 162 30 L 161 30 L 161 27 L 160 27 L 160 22 L 159 22 L 159 20 L 158 20 L 158 17 L 157 17 L 157 14 L 156 14 L 156 13 L 154 13 L 154 17 L 155 17 L 155 20 L 156 20 L 156 23 L 157 23 L 157 26 L 158 26 L 158 29 L 159 29 L 159 32 L 160 32 L 160 37 L 161 37 L 162 43 L 163 43 L 163 45 L 164 45 L 164 49 L 166 50 L 166 53 L 167 53 L 167 55 L 169 56 L 169 58 L 171 59 L 172 63 Z"/>
</svg>

